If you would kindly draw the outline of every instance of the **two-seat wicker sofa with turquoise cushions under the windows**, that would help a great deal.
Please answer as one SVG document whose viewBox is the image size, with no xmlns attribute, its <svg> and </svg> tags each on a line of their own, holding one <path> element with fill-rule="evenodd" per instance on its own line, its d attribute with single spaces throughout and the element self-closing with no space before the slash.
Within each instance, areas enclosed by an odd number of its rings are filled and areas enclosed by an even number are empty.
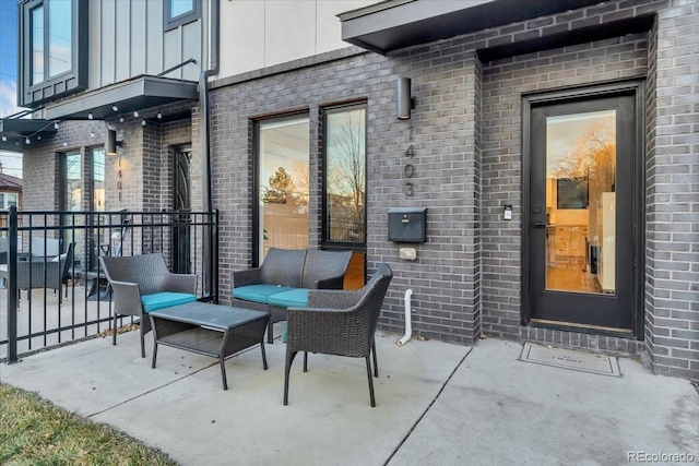
<svg viewBox="0 0 699 466">
<path fill-rule="evenodd" d="M 233 273 L 233 306 L 270 313 L 272 326 L 286 321 L 287 308 L 304 308 L 309 289 L 342 289 L 351 251 L 270 248 L 257 268 Z"/>
</svg>

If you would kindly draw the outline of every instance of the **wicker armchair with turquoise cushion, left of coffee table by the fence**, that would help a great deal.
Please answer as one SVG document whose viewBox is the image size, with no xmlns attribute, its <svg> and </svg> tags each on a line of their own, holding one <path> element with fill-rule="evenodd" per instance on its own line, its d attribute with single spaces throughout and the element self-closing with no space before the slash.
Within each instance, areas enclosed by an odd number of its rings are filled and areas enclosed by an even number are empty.
<svg viewBox="0 0 699 466">
<path fill-rule="evenodd" d="M 145 334 L 151 331 L 151 320 L 144 315 L 155 309 L 196 301 L 197 275 L 170 273 L 162 254 L 100 256 L 99 262 L 114 291 L 111 344 L 117 344 L 117 316 L 137 316 L 141 326 L 141 357 L 145 358 Z"/>
</svg>

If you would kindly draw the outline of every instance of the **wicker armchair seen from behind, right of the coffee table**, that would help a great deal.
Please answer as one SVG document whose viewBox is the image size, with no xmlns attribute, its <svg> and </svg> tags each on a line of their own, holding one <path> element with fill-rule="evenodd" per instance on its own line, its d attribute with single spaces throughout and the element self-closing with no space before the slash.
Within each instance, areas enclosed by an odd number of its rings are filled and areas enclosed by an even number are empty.
<svg viewBox="0 0 699 466">
<path fill-rule="evenodd" d="M 288 377 L 294 358 L 298 351 L 305 353 L 306 372 L 310 351 L 365 358 L 371 407 L 376 406 L 369 356 L 374 354 L 374 375 L 378 377 L 374 334 L 391 278 L 391 267 L 382 263 L 369 283 L 357 291 L 310 290 L 308 308 L 288 309 L 284 405 L 288 404 Z"/>
</svg>

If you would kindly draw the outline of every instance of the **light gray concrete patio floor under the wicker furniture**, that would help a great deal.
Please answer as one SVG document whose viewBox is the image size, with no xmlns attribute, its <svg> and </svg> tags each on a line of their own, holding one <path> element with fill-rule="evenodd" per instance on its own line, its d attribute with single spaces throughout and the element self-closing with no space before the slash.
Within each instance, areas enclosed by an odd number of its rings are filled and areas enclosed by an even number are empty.
<svg viewBox="0 0 699 466">
<path fill-rule="evenodd" d="M 227 360 L 226 392 L 212 358 L 162 346 L 151 369 L 135 332 L 116 347 L 99 338 L 0 365 L 0 381 L 182 465 L 620 465 L 642 454 L 699 464 L 689 381 L 630 359 L 621 378 L 522 362 L 522 345 L 506 340 L 396 339 L 377 334 L 376 408 L 364 360 L 322 355 L 309 355 L 307 373 L 296 359 L 283 406 L 279 339 L 266 345 L 268 371 L 259 347 Z"/>
</svg>

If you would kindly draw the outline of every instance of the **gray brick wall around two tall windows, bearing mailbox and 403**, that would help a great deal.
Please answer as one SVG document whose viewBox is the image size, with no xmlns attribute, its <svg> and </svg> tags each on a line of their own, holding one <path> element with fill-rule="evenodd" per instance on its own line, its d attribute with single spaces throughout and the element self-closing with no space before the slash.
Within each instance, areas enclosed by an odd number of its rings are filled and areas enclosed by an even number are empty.
<svg viewBox="0 0 699 466">
<path fill-rule="evenodd" d="M 387 262 L 395 278 L 386 299 L 381 325 L 402 332 L 403 296 L 414 291 L 414 328 L 443 340 L 472 343 L 479 333 L 479 243 L 477 235 L 478 138 L 476 115 L 479 62 L 472 51 L 459 61 L 437 63 L 428 52 L 387 59 L 360 53 L 331 63 L 282 72 L 212 92 L 214 206 L 222 210 L 221 277 L 224 298 L 232 270 L 250 266 L 252 237 L 251 119 L 272 112 L 308 109 L 310 119 L 311 247 L 321 227 L 321 141 L 319 109 L 347 99 L 366 99 L 368 111 L 367 264 Z M 413 120 L 395 117 L 399 75 L 413 79 L 417 99 Z M 414 146 L 414 156 L 405 152 Z M 405 164 L 414 194 L 404 193 Z M 398 243 L 388 241 L 388 208 L 428 206 L 428 242 L 415 262 L 400 261 Z M 465 232 L 465 234 L 464 234 Z"/>
</svg>

